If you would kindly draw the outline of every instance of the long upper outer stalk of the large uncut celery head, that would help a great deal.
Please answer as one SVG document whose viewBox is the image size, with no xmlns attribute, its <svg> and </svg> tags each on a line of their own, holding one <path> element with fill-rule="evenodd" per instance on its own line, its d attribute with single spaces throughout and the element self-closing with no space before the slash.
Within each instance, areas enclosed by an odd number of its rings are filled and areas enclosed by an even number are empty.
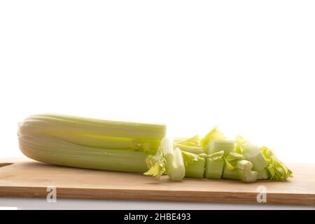
<svg viewBox="0 0 315 224">
<path fill-rule="evenodd" d="M 132 148 L 156 153 L 166 126 L 97 120 L 60 115 L 30 116 L 20 125 L 20 134 L 45 134 L 82 146 Z"/>
</svg>

